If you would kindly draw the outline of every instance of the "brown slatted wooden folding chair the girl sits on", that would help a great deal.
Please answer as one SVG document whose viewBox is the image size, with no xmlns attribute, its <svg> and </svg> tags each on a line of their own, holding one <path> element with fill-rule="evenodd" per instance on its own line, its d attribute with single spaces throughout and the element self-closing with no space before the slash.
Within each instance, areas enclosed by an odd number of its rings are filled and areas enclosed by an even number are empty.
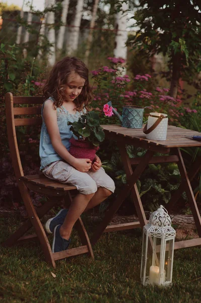
<svg viewBox="0 0 201 303">
<path fill-rule="evenodd" d="M 16 137 L 16 127 L 41 124 L 42 103 L 42 97 L 13 96 L 10 92 L 6 94 L 6 120 L 12 164 L 29 218 L 2 245 L 11 246 L 37 237 L 43 249 L 46 262 L 55 267 L 55 260 L 85 254 L 86 252 L 92 258 L 94 258 L 94 255 L 81 218 L 77 220 L 75 228 L 80 236 L 82 246 L 55 253 L 51 251 L 46 233 L 40 222 L 40 218 L 55 205 L 61 203 L 61 201 L 64 202 L 65 206 L 69 205 L 71 203 L 70 190 L 76 189 L 76 186 L 55 182 L 46 178 L 43 174 L 24 176 Z M 32 118 L 27 118 L 27 115 L 32 115 Z M 15 118 L 15 116 L 20 116 L 20 118 Z M 47 202 L 41 208 L 34 208 L 29 189 L 48 197 Z M 24 235 L 32 226 L 34 227 L 35 234 Z"/>
</svg>

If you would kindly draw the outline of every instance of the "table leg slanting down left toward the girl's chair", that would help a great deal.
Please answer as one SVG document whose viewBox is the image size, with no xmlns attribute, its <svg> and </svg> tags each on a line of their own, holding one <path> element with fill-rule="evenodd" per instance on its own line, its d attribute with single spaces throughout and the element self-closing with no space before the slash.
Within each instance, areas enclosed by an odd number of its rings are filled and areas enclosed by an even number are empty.
<svg viewBox="0 0 201 303">
<path fill-rule="evenodd" d="M 119 207 L 121 206 L 121 204 L 123 203 L 125 198 L 128 196 L 128 194 L 133 186 L 135 186 L 135 193 L 136 193 L 136 196 L 139 201 L 140 196 L 139 196 L 138 189 L 137 189 L 137 186 L 135 183 L 139 179 L 142 172 L 145 170 L 146 166 L 149 164 L 153 155 L 154 155 L 154 151 L 148 150 L 147 153 L 145 154 L 145 156 L 142 157 L 142 161 L 138 164 L 135 171 L 132 174 L 130 174 L 130 178 L 128 178 L 127 184 L 125 184 L 123 186 L 122 190 L 119 192 L 114 203 L 109 207 L 108 211 L 106 211 L 105 218 L 100 223 L 97 230 L 95 231 L 92 238 L 90 239 L 92 244 L 95 244 L 97 242 L 97 240 L 100 238 L 100 236 L 104 232 L 105 228 L 107 227 L 108 223 L 111 221 L 114 214 L 118 211 Z M 138 212 L 139 212 L 139 216 L 141 217 L 141 221 L 142 221 L 141 227 L 143 227 L 145 225 L 144 222 L 146 221 L 146 218 L 144 215 L 143 207 L 142 207 L 142 209 L 141 209 L 140 205 L 139 205 L 139 207 L 140 207 L 140 209 L 138 209 Z"/>
</svg>

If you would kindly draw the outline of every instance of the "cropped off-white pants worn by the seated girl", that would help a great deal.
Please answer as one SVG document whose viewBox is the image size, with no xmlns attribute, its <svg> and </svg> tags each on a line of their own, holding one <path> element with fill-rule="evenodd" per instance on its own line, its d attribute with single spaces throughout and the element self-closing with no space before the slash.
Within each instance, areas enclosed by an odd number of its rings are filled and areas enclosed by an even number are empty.
<svg viewBox="0 0 201 303">
<path fill-rule="evenodd" d="M 43 169 L 43 174 L 61 183 L 75 185 L 80 193 L 91 194 L 97 191 L 98 187 L 105 187 L 114 192 L 114 181 L 106 174 L 101 167 L 98 171 L 82 173 L 65 161 L 52 162 Z"/>
</svg>

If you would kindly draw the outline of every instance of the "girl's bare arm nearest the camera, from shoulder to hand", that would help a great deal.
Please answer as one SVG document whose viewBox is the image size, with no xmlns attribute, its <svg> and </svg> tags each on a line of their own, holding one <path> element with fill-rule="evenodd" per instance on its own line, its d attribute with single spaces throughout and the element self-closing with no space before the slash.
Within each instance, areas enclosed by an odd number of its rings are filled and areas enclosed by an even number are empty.
<svg viewBox="0 0 201 303">
<path fill-rule="evenodd" d="M 52 146 L 56 153 L 70 165 L 74 166 L 77 170 L 81 172 L 88 172 L 91 169 L 90 159 L 76 159 L 73 157 L 66 147 L 63 145 L 57 125 L 57 112 L 54 109 L 51 100 L 47 100 L 43 108 L 43 118 L 47 127 L 48 134 Z"/>
</svg>

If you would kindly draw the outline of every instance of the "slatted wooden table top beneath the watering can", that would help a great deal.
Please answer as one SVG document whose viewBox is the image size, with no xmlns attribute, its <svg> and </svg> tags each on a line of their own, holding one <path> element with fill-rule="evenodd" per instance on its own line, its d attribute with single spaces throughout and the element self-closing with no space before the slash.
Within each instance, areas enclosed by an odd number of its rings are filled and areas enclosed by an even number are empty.
<svg viewBox="0 0 201 303">
<path fill-rule="evenodd" d="M 157 141 L 157 140 L 150 140 L 146 139 L 146 134 L 143 132 L 143 128 L 126 128 L 122 127 L 120 125 L 101 125 L 104 129 L 104 132 L 106 136 L 110 135 L 109 137 L 112 138 L 114 136 L 114 139 L 128 139 L 129 143 L 133 140 L 133 143 L 139 143 L 139 146 L 143 145 L 143 143 L 146 145 L 151 146 L 158 146 L 162 148 L 172 148 L 172 147 L 189 147 L 189 146 L 200 146 L 201 147 L 201 141 L 195 141 L 189 138 L 185 138 L 186 136 L 201 136 L 201 133 L 197 131 L 193 131 L 190 129 L 184 129 L 172 125 L 168 125 L 167 129 L 167 139 L 165 141 Z M 112 136 L 113 135 L 113 136 Z M 132 139 L 132 140 L 130 140 Z M 141 144 L 142 143 L 142 144 Z"/>
</svg>

